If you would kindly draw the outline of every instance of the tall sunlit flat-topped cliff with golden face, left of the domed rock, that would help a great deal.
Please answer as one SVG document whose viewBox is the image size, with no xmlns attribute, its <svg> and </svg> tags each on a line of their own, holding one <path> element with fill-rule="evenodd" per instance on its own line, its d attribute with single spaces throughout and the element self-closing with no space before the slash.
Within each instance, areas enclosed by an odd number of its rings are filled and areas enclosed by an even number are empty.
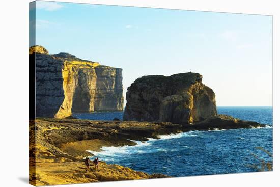
<svg viewBox="0 0 280 187">
<path fill-rule="evenodd" d="M 123 110 L 122 69 L 67 53 L 48 55 L 39 47 L 30 49 L 31 65 L 36 60 L 37 117 L 66 118 L 72 112 Z"/>
</svg>

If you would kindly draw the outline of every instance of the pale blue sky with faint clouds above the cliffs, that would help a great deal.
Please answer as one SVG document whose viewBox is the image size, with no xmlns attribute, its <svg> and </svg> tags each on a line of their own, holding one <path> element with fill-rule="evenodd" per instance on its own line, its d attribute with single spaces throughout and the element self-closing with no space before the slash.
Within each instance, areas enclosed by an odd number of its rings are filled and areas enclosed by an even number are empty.
<svg viewBox="0 0 280 187">
<path fill-rule="evenodd" d="M 272 16 L 44 1 L 30 13 L 50 54 L 122 68 L 124 97 L 138 77 L 191 71 L 217 106 L 272 105 Z"/>
</svg>

